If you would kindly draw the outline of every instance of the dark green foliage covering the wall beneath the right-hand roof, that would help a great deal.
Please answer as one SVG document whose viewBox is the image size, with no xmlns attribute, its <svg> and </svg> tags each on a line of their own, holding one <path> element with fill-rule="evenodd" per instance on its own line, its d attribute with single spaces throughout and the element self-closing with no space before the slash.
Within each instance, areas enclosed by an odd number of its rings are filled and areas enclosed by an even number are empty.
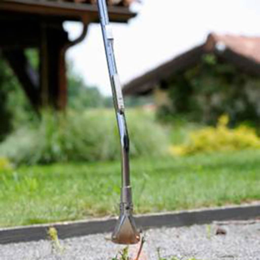
<svg viewBox="0 0 260 260">
<path fill-rule="evenodd" d="M 196 66 L 173 75 L 168 83 L 173 114 L 185 113 L 193 120 L 216 124 L 228 114 L 230 125 L 242 121 L 259 124 L 260 78 L 245 74 L 213 54 Z"/>
</svg>

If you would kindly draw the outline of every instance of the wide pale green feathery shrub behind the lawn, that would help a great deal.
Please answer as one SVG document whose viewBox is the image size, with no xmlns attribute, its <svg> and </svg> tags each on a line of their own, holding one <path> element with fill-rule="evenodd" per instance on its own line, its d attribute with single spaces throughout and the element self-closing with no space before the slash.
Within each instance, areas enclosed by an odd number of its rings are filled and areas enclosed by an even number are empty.
<svg viewBox="0 0 260 260">
<path fill-rule="evenodd" d="M 167 134 L 150 116 L 133 111 L 127 122 L 131 157 L 166 153 Z M 66 116 L 44 112 L 41 121 L 20 127 L 0 144 L 0 156 L 15 164 L 117 159 L 120 146 L 114 112 L 70 111 Z"/>
</svg>

